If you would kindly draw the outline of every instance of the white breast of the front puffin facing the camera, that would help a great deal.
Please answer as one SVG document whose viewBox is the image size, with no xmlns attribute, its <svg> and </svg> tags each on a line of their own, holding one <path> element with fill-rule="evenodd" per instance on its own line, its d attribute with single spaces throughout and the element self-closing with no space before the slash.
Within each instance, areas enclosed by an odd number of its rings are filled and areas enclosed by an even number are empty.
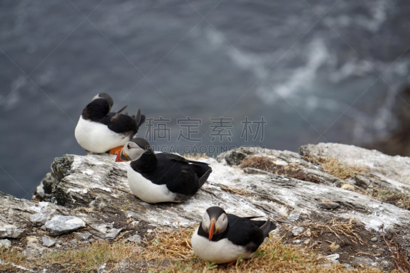
<svg viewBox="0 0 410 273">
<path fill-rule="evenodd" d="M 219 241 L 209 241 L 208 238 L 198 235 L 195 229 L 191 238 L 195 254 L 207 262 L 228 263 L 237 260 L 240 256 L 244 259 L 251 258 L 253 253 L 245 250 L 243 246 L 235 245 L 227 238 Z"/>
</svg>

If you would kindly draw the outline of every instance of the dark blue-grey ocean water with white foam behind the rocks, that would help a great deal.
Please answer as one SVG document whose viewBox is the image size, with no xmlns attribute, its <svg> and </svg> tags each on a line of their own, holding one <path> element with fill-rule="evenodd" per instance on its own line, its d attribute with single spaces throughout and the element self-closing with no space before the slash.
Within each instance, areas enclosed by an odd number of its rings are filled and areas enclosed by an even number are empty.
<svg viewBox="0 0 410 273">
<path fill-rule="evenodd" d="M 408 14 L 406 0 L 2 1 L 0 191 L 29 198 L 54 157 L 85 154 L 74 128 L 98 92 L 154 118 L 139 136 L 163 150 L 372 141 L 397 123 Z M 187 117 L 200 141 L 177 140 Z"/>
</svg>

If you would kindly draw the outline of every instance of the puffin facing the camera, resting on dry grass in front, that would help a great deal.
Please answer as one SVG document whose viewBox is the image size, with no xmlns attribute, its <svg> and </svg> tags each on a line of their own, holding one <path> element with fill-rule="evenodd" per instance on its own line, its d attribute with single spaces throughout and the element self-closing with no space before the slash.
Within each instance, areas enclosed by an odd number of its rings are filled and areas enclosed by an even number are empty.
<svg viewBox="0 0 410 273">
<path fill-rule="evenodd" d="M 209 207 L 191 238 L 195 254 L 216 264 L 251 258 L 276 228 L 269 219 L 252 220 L 258 217 L 239 217 L 227 214 L 219 206 Z"/>
</svg>

